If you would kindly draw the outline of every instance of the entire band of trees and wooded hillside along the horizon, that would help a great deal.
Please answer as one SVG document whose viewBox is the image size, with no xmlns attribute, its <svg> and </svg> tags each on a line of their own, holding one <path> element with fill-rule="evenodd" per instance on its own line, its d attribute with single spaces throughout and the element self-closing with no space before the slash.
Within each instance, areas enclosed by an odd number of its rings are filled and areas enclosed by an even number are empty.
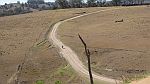
<svg viewBox="0 0 150 84">
<path fill-rule="evenodd" d="M 26 3 L 5 4 L 0 6 L 0 16 L 16 15 L 32 12 L 32 9 L 51 10 L 65 8 L 84 7 L 107 7 L 107 6 L 133 6 L 142 5 L 145 0 L 55 0 L 55 2 L 45 2 L 44 0 L 27 0 Z"/>
</svg>

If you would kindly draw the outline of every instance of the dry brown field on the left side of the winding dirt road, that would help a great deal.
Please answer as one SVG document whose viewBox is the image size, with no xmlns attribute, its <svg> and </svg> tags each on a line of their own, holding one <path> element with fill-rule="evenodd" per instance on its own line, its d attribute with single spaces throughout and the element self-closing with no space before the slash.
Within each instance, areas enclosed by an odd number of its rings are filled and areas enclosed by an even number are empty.
<svg viewBox="0 0 150 84">
<path fill-rule="evenodd" d="M 81 77 L 54 74 L 67 63 L 47 41 L 46 32 L 59 20 L 77 16 L 83 11 L 101 9 L 104 8 L 62 9 L 0 17 L 0 84 L 7 84 L 22 63 L 18 78 L 23 84 L 35 84 L 36 80 L 44 80 L 46 84 L 56 80 L 65 80 L 69 84 L 84 83 Z"/>
</svg>

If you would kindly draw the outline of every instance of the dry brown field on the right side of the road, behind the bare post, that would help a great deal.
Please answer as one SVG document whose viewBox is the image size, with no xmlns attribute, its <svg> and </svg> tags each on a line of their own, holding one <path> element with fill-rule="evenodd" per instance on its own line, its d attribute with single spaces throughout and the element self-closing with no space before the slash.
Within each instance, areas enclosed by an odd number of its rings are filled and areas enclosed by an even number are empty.
<svg viewBox="0 0 150 84">
<path fill-rule="evenodd" d="M 90 49 L 93 71 L 120 80 L 138 79 L 150 72 L 149 10 L 120 7 L 71 20 L 60 26 L 59 38 L 86 64 L 79 33 Z"/>
</svg>

